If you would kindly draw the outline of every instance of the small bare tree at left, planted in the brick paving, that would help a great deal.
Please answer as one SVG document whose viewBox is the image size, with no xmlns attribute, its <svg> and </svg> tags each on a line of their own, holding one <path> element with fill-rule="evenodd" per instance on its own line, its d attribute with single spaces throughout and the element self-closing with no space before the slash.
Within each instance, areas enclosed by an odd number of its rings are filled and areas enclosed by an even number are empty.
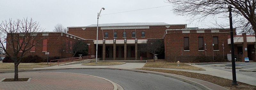
<svg viewBox="0 0 256 90">
<path fill-rule="evenodd" d="M 39 38 L 40 32 L 44 29 L 40 27 L 38 22 L 33 21 L 32 18 L 17 19 L 17 21 L 2 21 L 0 24 L 0 50 L 5 52 L 14 61 L 14 80 L 18 80 L 18 65 L 22 57 L 30 52 L 43 38 Z M 6 38 L 6 47 L 3 47 L 2 38 Z"/>
</svg>

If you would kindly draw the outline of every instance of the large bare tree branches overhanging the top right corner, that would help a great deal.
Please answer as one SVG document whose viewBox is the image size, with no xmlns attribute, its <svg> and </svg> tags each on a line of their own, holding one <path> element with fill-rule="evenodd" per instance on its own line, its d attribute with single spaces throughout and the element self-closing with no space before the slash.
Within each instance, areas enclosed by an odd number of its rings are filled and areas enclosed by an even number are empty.
<svg viewBox="0 0 256 90">
<path fill-rule="evenodd" d="M 167 2 L 173 5 L 175 14 L 188 16 L 191 22 L 204 22 L 207 18 L 218 15 L 228 17 L 228 5 L 232 5 L 234 28 L 247 34 L 253 33 L 256 38 L 255 0 L 168 0 Z"/>
</svg>

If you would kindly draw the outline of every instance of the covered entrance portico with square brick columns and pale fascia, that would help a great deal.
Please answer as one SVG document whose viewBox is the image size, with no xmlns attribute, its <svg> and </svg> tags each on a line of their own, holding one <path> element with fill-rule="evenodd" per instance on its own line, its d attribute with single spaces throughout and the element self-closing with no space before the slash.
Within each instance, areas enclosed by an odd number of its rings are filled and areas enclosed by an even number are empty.
<svg viewBox="0 0 256 90">
<path fill-rule="evenodd" d="M 138 52 L 138 44 L 142 41 L 147 40 L 98 40 L 98 45 L 102 47 L 99 49 L 102 60 L 140 60 L 140 56 L 147 57 L 146 53 Z"/>
</svg>

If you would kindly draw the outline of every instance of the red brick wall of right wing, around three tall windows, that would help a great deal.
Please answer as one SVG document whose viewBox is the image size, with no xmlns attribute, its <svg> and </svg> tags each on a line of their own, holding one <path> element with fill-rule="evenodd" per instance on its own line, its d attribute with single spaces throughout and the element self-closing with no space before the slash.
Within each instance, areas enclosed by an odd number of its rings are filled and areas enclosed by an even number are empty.
<svg viewBox="0 0 256 90">
<path fill-rule="evenodd" d="M 223 57 L 222 42 L 224 42 L 224 56 L 230 54 L 230 45 L 228 45 L 229 30 L 220 30 L 223 33 L 206 33 L 211 30 L 204 30 L 205 33 L 196 33 L 196 30 L 190 30 L 190 33 L 182 31 L 167 31 L 165 35 L 165 60 L 169 61 L 193 61 L 198 56 L 205 56 L 205 51 L 198 50 L 198 37 L 204 37 L 206 42 L 206 55 L 212 57 L 213 36 L 218 36 L 219 51 L 214 51 L 214 56 Z M 226 33 L 225 33 L 226 32 Z M 184 51 L 184 37 L 189 37 L 189 51 Z M 205 48 L 205 47 L 204 47 Z M 182 54 L 182 55 L 181 55 Z"/>
</svg>

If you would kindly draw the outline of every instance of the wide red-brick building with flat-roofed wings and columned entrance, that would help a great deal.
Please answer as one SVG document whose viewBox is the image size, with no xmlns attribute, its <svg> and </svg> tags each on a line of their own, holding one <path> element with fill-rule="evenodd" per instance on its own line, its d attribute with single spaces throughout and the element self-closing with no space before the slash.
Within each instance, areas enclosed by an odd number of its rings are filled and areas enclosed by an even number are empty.
<svg viewBox="0 0 256 90">
<path fill-rule="evenodd" d="M 82 41 L 88 44 L 88 55 L 96 55 L 97 24 L 84 27 L 67 27 L 68 33 L 44 32 L 46 37 L 27 55 L 72 57 L 69 44 Z M 109 23 L 99 24 L 98 55 L 100 60 L 153 59 L 150 53 L 140 53 L 138 45 L 143 41 L 164 41 L 164 59 L 168 61 L 194 61 L 197 57 L 225 58 L 231 54 L 229 29 L 187 28 L 187 24 L 167 23 Z M 235 55 L 255 60 L 255 37 L 236 35 Z M 7 37 L 8 42 L 8 37 Z M 46 42 L 46 43 L 45 43 Z M 214 44 L 214 46 L 213 46 Z M 46 46 L 45 46 L 46 45 Z M 8 45 L 7 45 L 7 50 Z"/>
</svg>

